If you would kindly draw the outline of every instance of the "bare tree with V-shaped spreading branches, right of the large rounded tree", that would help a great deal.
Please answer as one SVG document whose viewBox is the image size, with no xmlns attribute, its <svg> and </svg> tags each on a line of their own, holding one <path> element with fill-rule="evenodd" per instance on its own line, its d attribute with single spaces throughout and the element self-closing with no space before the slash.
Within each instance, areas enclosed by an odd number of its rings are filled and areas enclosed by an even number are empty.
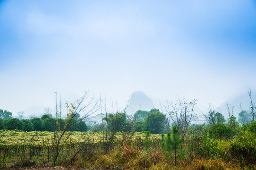
<svg viewBox="0 0 256 170">
<path fill-rule="evenodd" d="M 170 118 L 174 124 L 179 127 L 182 137 L 184 137 L 188 130 L 188 125 L 195 117 L 194 107 L 197 100 L 191 100 L 187 103 L 184 98 L 174 101 L 174 103 L 167 102 L 165 110 L 169 113 Z"/>
</svg>

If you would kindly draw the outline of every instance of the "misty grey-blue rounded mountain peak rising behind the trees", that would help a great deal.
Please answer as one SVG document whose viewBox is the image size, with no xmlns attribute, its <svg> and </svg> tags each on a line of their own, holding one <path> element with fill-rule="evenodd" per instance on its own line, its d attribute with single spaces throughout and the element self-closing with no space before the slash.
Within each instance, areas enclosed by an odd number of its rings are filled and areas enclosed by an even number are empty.
<svg viewBox="0 0 256 170">
<path fill-rule="evenodd" d="M 126 109 L 127 115 L 133 115 L 137 110 L 150 111 L 154 108 L 154 103 L 144 92 L 136 91 L 131 94 L 131 99 Z"/>
</svg>

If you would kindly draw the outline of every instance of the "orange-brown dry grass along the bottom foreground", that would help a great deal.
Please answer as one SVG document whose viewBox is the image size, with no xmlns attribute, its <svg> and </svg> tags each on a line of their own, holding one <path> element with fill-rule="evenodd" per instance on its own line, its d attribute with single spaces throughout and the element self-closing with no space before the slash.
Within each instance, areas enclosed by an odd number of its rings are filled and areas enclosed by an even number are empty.
<svg viewBox="0 0 256 170">
<path fill-rule="evenodd" d="M 240 168 L 239 162 L 222 159 L 177 160 L 175 166 L 174 160 L 167 159 L 161 150 L 140 151 L 127 144 L 117 146 L 108 154 L 98 151 L 90 158 L 77 158 L 74 166 L 108 170 L 249 170 Z"/>
</svg>

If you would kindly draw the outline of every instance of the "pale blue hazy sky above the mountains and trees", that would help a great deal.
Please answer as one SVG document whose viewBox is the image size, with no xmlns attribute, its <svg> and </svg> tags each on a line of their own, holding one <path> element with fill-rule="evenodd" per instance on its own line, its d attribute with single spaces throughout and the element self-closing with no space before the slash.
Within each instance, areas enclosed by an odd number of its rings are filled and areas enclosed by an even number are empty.
<svg viewBox="0 0 256 170">
<path fill-rule="evenodd" d="M 56 91 L 204 110 L 256 89 L 255 75 L 255 0 L 0 0 L 0 109 L 14 115 L 54 108 Z"/>
</svg>

